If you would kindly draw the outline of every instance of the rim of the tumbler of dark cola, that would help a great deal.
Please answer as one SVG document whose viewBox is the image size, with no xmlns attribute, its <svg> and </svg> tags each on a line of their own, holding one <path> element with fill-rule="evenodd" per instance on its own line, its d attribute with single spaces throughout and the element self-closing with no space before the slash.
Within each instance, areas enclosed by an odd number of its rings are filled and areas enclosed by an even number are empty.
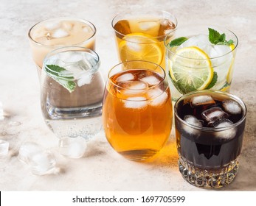
<svg viewBox="0 0 256 206">
<path fill-rule="evenodd" d="M 232 100 L 235 99 L 235 102 L 238 102 L 238 104 L 242 107 L 243 117 L 238 122 L 236 122 L 234 124 L 231 124 L 230 126 L 218 127 L 218 128 L 215 128 L 215 127 L 198 127 L 196 125 L 187 123 L 186 121 L 184 121 L 182 118 L 179 117 L 178 112 L 177 112 L 177 107 L 178 107 L 179 102 L 181 102 L 181 100 L 187 98 L 188 96 L 192 96 L 193 94 L 196 94 L 196 93 L 203 93 L 203 94 L 218 93 L 218 94 L 221 94 L 221 95 L 224 95 L 224 96 L 229 96 L 229 97 L 231 97 Z M 191 127 L 193 129 L 198 129 L 198 130 L 204 131 L 204 132 L 220 132 L 220 131 L 225 131 L 227 129 L 237 127 L 238 125 L 240 125 L 244 121 L 244 119 L 246 118 L 246 113 L 247 113 L 246 104 L 244 104 L 244 102 L 241 98 L 239 98 L 238 96 L 235 96 L 232 93 L 228 93 L 228 92 L 224 92 L 224 91 L 220 91 L 220 90 L 196 90 L 196 91 L 192 91 L 190 93 L 186 93 L 183 96 L 179 97 L 179 99 L 177 99 L 173 108 L 174 108 L 174 114 L 175 114 L 176 118 L 178 118 L 179 121 L 182 122 L 182 124 L 185 124 L 187 127 Z"/>
</svg>

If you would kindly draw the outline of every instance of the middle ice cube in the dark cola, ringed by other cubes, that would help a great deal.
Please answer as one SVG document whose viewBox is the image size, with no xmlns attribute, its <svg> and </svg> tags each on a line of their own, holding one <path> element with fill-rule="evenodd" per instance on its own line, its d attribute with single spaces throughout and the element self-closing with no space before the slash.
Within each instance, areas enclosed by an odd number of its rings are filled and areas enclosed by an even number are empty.
<svg viewBox="0 0 256 206">
<path fill-rule="evenodd" d="M 221 110 L 220 107 L 211 107 L 201 113 L 201 117 L 208 123 L 214 122 L 217 119 L 228 118 L 228 114 Z"/>
</svg>

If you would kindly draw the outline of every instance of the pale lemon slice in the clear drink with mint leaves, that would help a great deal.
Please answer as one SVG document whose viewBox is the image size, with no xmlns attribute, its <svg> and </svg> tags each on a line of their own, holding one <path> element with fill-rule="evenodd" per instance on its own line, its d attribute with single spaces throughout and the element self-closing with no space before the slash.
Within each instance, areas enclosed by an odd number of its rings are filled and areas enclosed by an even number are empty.
<svg viewBox="0 0 256 206">
<path fill-rule="evenodd" d="M 173 85 L 182 94 L 203 90 L 212 81 L 213 68 L 210 58 L 196 46 L 176 51 L 169 65 Z"/>
</svg>

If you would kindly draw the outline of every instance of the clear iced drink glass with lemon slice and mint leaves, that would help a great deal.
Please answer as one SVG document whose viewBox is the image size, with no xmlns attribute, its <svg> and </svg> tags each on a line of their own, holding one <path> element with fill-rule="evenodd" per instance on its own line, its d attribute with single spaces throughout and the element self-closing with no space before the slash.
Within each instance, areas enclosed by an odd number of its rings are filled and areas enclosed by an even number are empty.
<svg viewBox="0 0 256 206">
<path fill-rule="evenodd" d="M 229 91 L 238 46 L 238 38 L 229 29 L 184 26 L 167 35 L 165 46 L 166 71 L 174 102 L 193 90 Z"/>
</svg>

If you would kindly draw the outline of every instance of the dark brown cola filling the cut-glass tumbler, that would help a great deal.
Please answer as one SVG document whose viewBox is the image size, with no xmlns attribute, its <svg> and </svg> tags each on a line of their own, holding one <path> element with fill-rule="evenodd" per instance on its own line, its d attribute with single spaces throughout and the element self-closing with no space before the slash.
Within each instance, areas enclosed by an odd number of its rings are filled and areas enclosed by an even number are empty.
<svg viewBox="0 0 256 206">
<path fill-rule="evenodd" d="M 221 168 L 232 160 L 235 160 L 241 154 L 243 130 L 245 127 L 245 119 L 237 126 L 226 131 L 212 131 L 213 124 L 202 118 L 201 113 L 211 107 L 219 107 L 224 110 L 222 102 L 226 99 L 214 98 L 215 104 L 203 104 L 193 106 L 190 100 L 185 99 L 179 102 L 176 107 L 179 118 L 191 115 L 198 118 L 202 123 L 201 128 L 189 127 L 184 121 L 180 121 L 176 116 L 176 141 L 179 155 L 188 160 L 194 166 L 199 168 Z M 221 97 L 224 98 L 224 97 Z M 232 99 L 235 101 L 234 99 Z M 225 111 L 226 112 L 226 111 Z M 241 121 L 243 112 L 237 115 L 228 113 L 229 121 L 233 124 Z M 220 121 L 215 119 L 215 121 Z M 212 127 L 212 129 L 210 129 Z M 235 132 L 232 138 L 222 138 L 221 132 Z"/>
</svg>

